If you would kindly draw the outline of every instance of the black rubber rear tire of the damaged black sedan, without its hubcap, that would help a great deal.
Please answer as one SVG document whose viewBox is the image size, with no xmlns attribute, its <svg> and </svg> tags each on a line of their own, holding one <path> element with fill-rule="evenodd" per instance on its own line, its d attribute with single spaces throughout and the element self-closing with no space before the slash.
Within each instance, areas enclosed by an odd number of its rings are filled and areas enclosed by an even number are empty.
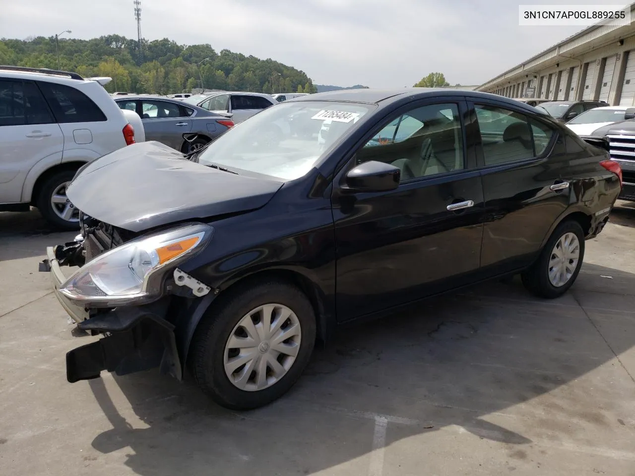
<svg viewBox="0 0 635 476">
<path fill-rule="evenodd" d="M 573 233 L 578 239 L 580 244 L 578 263 L 573 271 L 573 274 L 569 278 L 569 281 L 567 281 L 563 286 L 556 287 L 549 281 L 549 261 L 551 260 L 554 246 L 556 246 L 559 239 L 566 233 Z M 565 294 L 575 282 L 575 279 L 578 277 L 578 273 L 580 272 L 580 267 L 582 267 L 583 260 L 584 232 L 582 231 L 582 227 L 580 227 L 580 224 L 577 221 L 565 221 L 564 223 L 558 225 L 551 234 L 549 241 L 545 244 L 545 247 L 542 249 L 542 252 L 535 263 L 521 274 L 523 284 L 525 285 L 525 288 L 536 296 L 547 299 L 558 298 L 559 296 Z"/>
</svg>

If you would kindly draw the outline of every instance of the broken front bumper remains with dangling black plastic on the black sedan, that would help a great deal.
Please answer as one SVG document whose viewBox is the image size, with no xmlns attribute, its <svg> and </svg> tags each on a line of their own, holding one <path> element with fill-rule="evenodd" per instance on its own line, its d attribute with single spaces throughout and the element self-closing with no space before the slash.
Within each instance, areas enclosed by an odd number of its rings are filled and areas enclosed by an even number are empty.
<svg viewBox="0 0 635 476">
<path fill-rule="evenodd" d="M 60 293 L 66 277 L 55 248 L 46 248 L 46 256 L 40 271 L 49 272 L 57 300 L 77 327 L 93 335 L 105 334 L 100 340 L 67 352 L 66 376 L 70 383 L 97 378 L 103 370 L 124 375 L 157 366 L 161 373 L 182 379 L 174 326 L 165 319 L 168 298 L 150 305 L 102 310 L 77 306 Z"/>
</svg>

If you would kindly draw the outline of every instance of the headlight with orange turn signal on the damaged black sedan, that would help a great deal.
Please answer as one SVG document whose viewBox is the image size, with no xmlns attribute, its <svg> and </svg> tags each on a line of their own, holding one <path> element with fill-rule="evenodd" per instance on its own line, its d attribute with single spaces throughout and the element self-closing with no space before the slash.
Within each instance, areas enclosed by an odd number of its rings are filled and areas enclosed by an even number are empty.
<svg viewBox="0 0 635 476">
<path fill-rule="evenodd" d="M 212 234 L 213 228 L 201 223 L 127 242 L 79 268 L 60 293 L 93 307 L 155 300 L 164 272 L 203 249 Z"/>
</svg>

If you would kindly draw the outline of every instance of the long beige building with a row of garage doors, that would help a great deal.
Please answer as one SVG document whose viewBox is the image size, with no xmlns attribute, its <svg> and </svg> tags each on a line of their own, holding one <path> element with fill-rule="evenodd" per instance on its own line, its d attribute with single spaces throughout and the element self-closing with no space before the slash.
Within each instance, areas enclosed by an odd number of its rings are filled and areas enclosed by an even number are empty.
<svg viewBox="0 0 635 476">
<path fill-rule="evenodd" d="M 635 4 L 631 15 L 635 18 Z M 529 94 L 550 100 L 635 105 L 635 25 L 588 27 L 477 90 L 509 98 Z"/>
</svg>

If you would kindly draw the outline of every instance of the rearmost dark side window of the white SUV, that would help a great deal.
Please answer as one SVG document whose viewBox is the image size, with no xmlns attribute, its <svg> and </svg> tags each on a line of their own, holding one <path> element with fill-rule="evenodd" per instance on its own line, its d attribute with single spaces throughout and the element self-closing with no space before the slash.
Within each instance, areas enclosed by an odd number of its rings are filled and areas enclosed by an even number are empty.
<svg viewBox="0 0 635 476">
<path fill-rule="evenodd" d="M 57 122 L 107 121 L 104 112 L 79 89 L 65 84 L 39 83 Z"/>
</svg>

